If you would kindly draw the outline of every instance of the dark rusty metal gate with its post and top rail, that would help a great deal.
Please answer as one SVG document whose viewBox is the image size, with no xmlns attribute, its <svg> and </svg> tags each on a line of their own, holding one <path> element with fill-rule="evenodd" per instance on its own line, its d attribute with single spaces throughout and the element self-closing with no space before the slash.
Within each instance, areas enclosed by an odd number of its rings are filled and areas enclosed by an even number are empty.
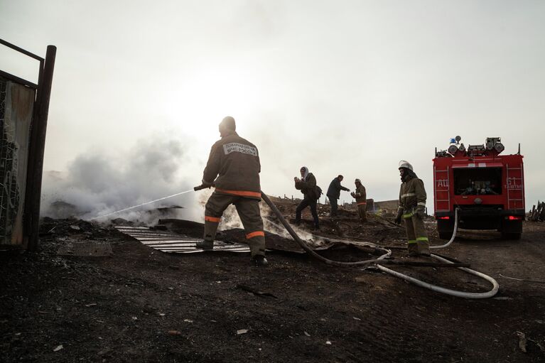
<svg viewBox="0 0 545 363">
<path fill-rule="evenodd" d="M 44 58 L 5 40 L 38 60 L 38 84 L 0 70 L 0 246 L 38 244 L 43 151 L 56 48 Z"/>
</svg>

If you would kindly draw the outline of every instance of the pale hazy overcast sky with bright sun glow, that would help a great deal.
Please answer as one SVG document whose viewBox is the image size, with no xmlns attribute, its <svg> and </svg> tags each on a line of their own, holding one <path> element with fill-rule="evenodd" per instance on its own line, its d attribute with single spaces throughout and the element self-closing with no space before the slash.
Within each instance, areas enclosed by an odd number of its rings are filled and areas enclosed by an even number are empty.
<svg viewBox="0 0 545 363">
<path fill-rule="evenodd" d="M 406 159 L 433 208 L 434 148 L 460 135 L 521 143 L 527 209 L 545 199 L 545 1 L 0 0 L 0 14 L 0 38 L 58 48 L 45 170 L 183 145 L 177 181 L 135 204 L 198 185 L 226 115 L 259 148 L 271 195 L 299 195 L 308 166 L 323 189 L 342 173 L 396 199 Z M 37 77 L 4 47 L 0 68 Z"/>
</svg>

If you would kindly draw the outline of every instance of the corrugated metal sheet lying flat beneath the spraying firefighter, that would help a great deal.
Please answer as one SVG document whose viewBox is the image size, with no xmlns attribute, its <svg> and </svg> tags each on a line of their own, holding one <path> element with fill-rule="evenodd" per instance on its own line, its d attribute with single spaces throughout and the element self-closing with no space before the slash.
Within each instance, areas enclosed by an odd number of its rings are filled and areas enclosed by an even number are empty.
<svg viewBox="0 0 545 363">
<path fill-rule="evenodd" d="M 185 237 L 180 234 L 158 231 L 147 227 L 126 227 L 116 226 L 119 232 L 127 234 L 135 239 L 138 239 L 142 244 L 149 246 L 159 251 L 175 253 L 175 254 L 192 254 L 203 252 L 203 249 L 198 249 L 195 244 L 202 239 Z M 228 252 L 249 252 L 247 244 L 228 244 L 221 241 L 214 242 L 212 251 L 228 251 Z"/>
</svg>

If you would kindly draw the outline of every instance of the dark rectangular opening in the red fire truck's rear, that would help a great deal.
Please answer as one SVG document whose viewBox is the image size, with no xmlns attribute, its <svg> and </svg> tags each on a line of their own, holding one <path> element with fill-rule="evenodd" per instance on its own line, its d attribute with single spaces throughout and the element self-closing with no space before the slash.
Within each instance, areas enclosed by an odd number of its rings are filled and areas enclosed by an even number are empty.
<svg viewBox="0 0 545 363">
<path fill-rule="evenodd" d="M 455 195 L 502 194 L 502 168 L 454 169 Z"/>
</svg>

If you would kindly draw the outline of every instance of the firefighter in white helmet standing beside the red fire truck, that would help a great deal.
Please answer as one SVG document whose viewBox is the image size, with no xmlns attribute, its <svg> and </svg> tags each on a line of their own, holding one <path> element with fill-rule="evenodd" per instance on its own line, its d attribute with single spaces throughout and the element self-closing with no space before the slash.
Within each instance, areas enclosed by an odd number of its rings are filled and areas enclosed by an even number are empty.
<svg viewBox="0 0 545 363">
<path fill-rule="evenodd" d="M 413 166 L 404 160 L 399 161 L 399 175 L 403 183 L 399 190 L 396 223 L 401 224 L 401 219 L 405 222 L 409 256 L 429 256 L 428 234 L 423 223 L 426 209 L 424 183 L 414 173 Z"/>
</svg>

